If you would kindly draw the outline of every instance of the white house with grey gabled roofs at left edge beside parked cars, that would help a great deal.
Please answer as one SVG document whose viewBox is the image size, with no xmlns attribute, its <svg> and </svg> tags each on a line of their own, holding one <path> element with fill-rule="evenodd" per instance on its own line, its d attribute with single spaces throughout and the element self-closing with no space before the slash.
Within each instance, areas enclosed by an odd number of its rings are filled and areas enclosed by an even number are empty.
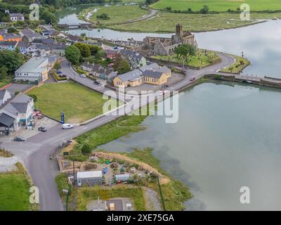
<svg viewBox="0 0 281 225">
<path fill-rule="evenodd" d="M 27 125 L 32 119 L 34 111 L 33 98 L 26 94 L 19 93 L 6 105 L 0 108 L 0 130 L 5 134 L 10 131 L 18 131 L 22 125 Z"/>
</svg>

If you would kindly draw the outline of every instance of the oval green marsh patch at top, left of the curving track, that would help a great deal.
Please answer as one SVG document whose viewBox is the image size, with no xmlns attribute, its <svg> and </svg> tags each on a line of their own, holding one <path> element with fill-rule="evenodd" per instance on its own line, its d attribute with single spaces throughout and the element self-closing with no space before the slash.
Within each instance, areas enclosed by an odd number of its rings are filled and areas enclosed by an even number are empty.
<svg viewBox="0 0 281 225">
<path fill-rule="evenodd" d="M 101 6 L 101 7 L 91 7 L 87 8 L 84 11 L 81 11 L 79 14 L 79 18 L 87 19 L 87 15 L 89 12 L 92 12 L 93 9 L 98 9 L 97 12 L 92 13 L 89 20 L 93 23 L 119 23 L 125 22 L 129 20 L 135 20 L 141 18 L 143 15 L 149 14 L 149 11 L 140 8 L 140 6 Z M 109 20 L 101 20 L 96 18 L 97 15 L 101 15 L 102 13 L 106 13 Z"/>
</svg>

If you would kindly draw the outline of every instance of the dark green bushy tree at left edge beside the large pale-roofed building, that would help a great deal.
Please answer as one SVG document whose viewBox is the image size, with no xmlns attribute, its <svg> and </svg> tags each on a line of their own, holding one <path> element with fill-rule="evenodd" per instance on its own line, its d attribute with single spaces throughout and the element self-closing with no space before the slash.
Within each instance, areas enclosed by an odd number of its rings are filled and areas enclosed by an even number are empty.
<svg viewBox="0 0 281 225">
<path fill-rule="evenodd" d="M 15 51 L 3 50 L 0 54 L 0 68 L 5 66 L 8 72 L 14 72 L 23 63 L 23 56 Z"/>
</svg>

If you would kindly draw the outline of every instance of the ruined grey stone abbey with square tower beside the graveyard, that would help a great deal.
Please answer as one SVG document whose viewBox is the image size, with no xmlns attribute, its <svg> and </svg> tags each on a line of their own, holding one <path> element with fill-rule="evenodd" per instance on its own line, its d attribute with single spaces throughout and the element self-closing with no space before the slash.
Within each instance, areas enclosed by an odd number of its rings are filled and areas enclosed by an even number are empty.
<svg viewBox="0 0 281 225">
<path fill-rule="evenodd" d="M 181 44 L 191 44 L 197 46 L 195 35 L 189 31 L 183 32 L 183 25 L 176 25 L 176 34 L 171 38 L 145 37 L 143 39 L 142 50 L 148 56 L 167 56 L 174 53 L 177 46 Z"/>
</svg>

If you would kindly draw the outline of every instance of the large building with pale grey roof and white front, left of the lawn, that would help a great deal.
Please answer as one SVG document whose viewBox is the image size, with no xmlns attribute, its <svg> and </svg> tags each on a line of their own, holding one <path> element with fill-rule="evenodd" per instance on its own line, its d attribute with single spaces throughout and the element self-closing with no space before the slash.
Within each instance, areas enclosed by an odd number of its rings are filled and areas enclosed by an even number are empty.
<svg viewBox="0 0 281 225">
<path fill-rule="evenodd" d="M 57 56 L 33 57 L 15 70 L 15 81 L 39 83 L 48 79 L 48 71 L 51 70 Z"/>
</svg>

